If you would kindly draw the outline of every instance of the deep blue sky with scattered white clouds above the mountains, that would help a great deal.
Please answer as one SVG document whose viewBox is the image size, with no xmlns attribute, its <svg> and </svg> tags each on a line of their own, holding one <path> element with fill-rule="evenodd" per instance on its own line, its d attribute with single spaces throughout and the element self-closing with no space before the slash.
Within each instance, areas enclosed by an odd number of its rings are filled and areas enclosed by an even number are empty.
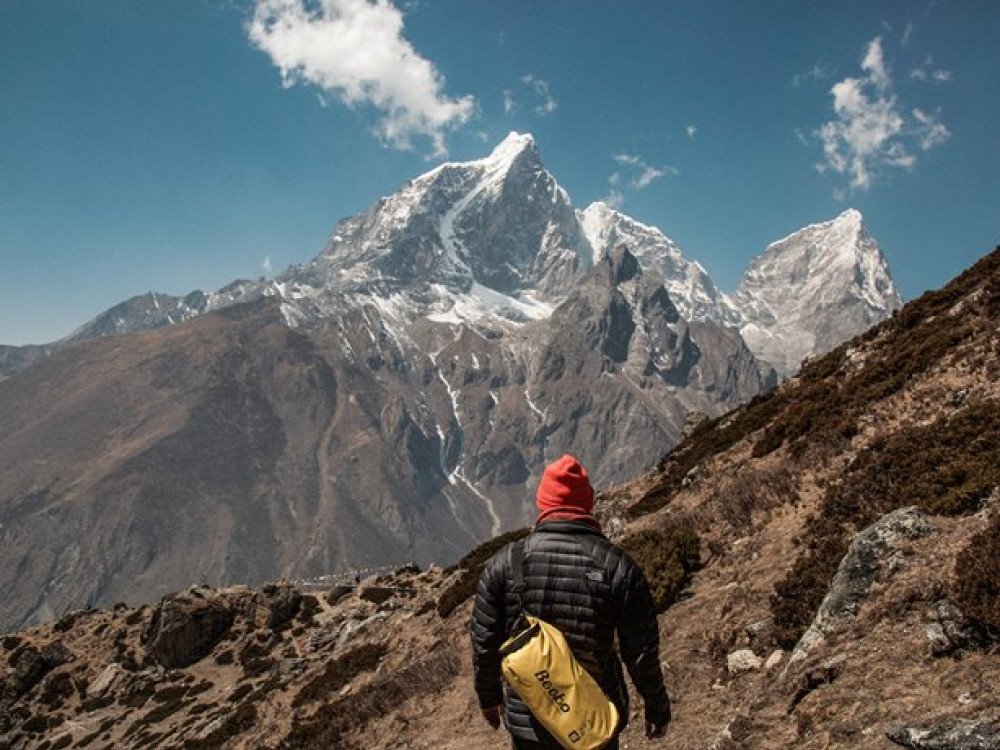
<svg viewBox="0 0 1000 750">
<path fill-rule="evenodd" d="M 1000 3 L 0 0 L 0 343 L 311 259 L 535 136 L 732 291 L 860 209 L 905 298 L 1000 243 Z"/>
</svg>

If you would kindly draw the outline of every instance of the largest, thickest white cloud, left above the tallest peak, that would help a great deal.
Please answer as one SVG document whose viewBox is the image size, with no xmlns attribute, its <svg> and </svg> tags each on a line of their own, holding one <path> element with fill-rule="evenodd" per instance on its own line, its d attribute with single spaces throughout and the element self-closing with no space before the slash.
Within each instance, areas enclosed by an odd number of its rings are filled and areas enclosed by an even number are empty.
<svg viewBox="0 0 1000 750">
<path fill-rule="evenodd" d="M 443 76 L 403 37 L 403 14 L 389 0 L 256 0 L 247 31 L 286 87 L 309 83 L 349 107 L 374 108 L 377 133 L 394 148 L 423 137 L 443 155 L 446 132 L 475 111 L 472 96 L 445 95 Z"/>
</svg>

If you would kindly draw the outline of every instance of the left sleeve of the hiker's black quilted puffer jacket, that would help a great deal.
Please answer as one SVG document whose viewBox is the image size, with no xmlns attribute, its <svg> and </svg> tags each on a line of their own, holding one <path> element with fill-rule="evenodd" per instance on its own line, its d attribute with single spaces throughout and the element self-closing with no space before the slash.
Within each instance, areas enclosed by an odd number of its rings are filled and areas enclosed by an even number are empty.
<svg viewBox="0 0 1000 750">
<path fill-rule="evenodd" d="M 500 677 L 500 646 L 504 641 L 506 612 L 504 605 L 504 561 L 507 548 L 501 549 L 486 564 L 476 587 L 472 610 L 472 666 L 476 695 L 481 708 L 503 703 Z"/>
</svg>

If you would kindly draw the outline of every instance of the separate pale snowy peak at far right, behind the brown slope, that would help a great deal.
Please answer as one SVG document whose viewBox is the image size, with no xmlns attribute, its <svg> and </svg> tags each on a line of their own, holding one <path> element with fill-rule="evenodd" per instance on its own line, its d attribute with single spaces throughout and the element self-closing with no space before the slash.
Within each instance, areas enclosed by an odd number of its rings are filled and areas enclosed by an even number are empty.
<svg viewBox="0 0 1000 750">
<path fill-rule="evenodd" d="M 733 302 L 747 344 L 783 376 L 902 305 L 878 245 L 854 210 L 768 247 L 747 269 Z"/>
</svg>

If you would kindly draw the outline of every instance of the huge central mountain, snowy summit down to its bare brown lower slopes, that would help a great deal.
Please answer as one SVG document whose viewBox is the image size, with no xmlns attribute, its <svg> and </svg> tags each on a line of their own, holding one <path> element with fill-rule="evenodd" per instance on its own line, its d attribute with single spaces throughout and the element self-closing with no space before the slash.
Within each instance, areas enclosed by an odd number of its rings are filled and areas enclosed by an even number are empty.
<svg viewBox="0 0 1000 750">
<path fill-rule="evenodd" d="M 515 135 L 344 219 L 309 264 L 113 309 L 88 330 L 157 327 L 81 334 L 0 382 L 0 626 L 192 580 L 448 562 L 529 520 L 558 455 L 613 486 L 691 413 L 770 389 L 735 327 L 671 298 L 676 266 L 711 301 L 698 266 L 604 218 L 594 248 Z"/>
</svg>

